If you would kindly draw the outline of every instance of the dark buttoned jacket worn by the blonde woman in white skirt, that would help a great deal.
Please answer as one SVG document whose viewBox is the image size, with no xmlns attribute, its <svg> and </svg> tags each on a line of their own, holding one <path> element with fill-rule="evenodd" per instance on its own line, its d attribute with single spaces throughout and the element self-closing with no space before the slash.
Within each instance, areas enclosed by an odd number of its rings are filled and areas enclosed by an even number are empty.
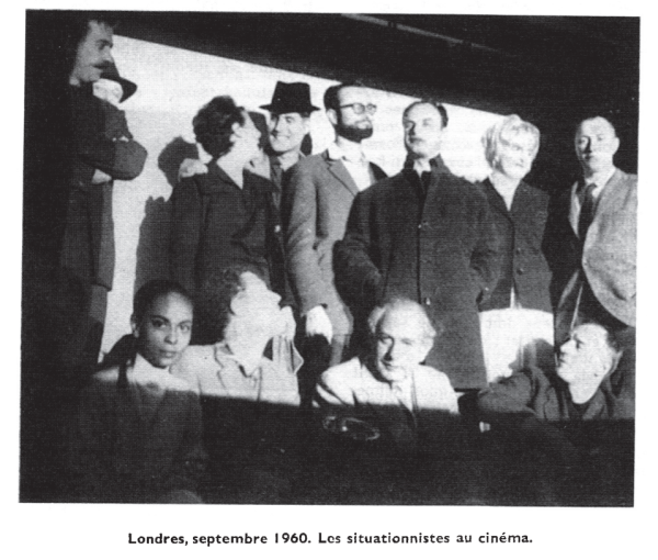
<svg viewBox="0 0 658 560">
<path fill-rule="evenodd" d="M 480 311 L 509 307 L 514 287 L 517 302 L 522 307 L 551 313 L 551 268 L 545 243 L 548 194 L 521 181 L 508 210 L 489 179 L 479 188 L 489 203 L 501 250 L 498 283 Z"/>
</svg>

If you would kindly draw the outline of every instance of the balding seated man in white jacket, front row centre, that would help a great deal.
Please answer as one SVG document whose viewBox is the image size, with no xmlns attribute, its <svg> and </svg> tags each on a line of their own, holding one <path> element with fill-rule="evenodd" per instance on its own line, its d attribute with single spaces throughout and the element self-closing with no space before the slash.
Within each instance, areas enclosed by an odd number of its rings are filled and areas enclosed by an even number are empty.
<svg viewBox="0 0 658 560">
<path fill-rule="evenodd" d="M 392 301 L 371 313 L 368 326 L 368 355 L 328 369 L 316 388 L 325 426 L 336 417 L 337 430 L 349 432 L 354 423 L 345 418 L 355 417 L 402 452 L 445 440 L 456 427 L 457 397 L 445 373 L 421 365 L 436 336 L 422 306 Z"/>
</svg>

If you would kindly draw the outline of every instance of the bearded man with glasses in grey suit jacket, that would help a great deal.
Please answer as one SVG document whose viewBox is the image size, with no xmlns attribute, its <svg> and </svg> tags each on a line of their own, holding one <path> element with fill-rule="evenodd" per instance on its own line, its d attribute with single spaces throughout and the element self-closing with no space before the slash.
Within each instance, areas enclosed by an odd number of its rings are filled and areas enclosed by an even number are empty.
<svg viewBox="0 0 658 560">
<path fill-rule="evenodd" d="M 326 338 L 331 345 L 329 363 L 336 365 L 349 344 L 352 316 L 333 284 L 333 245 L 344 234 L 356 193 L 386 175 L 361 148 L 373 134 L 377 109 L 368 90 L 361 83 L 332 86 L 325 93 L 325 108 L 336 142 L 291 169 L 282 214 L 290 279 L 305 317 L 305 335 Z M 329 363 L 320 363 L 319 371 Z"/>
</svg>

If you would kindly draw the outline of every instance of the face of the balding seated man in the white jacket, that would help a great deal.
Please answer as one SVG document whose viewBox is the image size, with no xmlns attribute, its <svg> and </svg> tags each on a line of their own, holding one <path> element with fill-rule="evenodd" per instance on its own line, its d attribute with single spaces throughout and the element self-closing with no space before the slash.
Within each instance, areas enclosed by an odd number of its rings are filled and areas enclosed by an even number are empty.
<svg viewBox="0 0 658 560">
<path fill-rule="evenodd" d="M 405 379 L 432 347 L 422 317 L 410 307 L 393 307 L 376 328 L 376 368 L 387 381 Z"/>
</svg>

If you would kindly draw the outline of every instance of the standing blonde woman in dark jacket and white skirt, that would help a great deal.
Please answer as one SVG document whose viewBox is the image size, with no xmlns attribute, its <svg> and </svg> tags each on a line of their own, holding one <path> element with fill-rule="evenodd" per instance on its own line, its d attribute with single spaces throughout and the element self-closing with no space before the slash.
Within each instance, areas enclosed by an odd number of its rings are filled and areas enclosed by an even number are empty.
<svg viewBox="0 0 658 560">
<path fill-rule="evenodd" d="M 489 381 L 523 367 L 553 362 L 551 269 L 545 239 L 548 194 L 530 187 L 540 131 L 518 115 L 491 126 L 483 137 L 491 173 L 480 184 L 498 234 L 502 267 L 491 296 L 480 306 Z"/>
</svg>

